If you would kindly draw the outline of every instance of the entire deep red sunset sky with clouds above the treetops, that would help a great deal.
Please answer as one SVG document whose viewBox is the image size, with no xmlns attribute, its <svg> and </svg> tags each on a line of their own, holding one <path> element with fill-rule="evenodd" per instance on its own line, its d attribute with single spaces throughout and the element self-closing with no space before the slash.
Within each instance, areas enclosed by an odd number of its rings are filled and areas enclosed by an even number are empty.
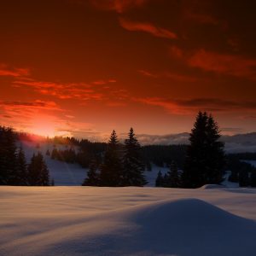
<svg viewBox="0 0 256 256">
<path fill-rule="evenodd" d="M 0 125 L 105 140 L 255 131 L 256 2 L 9 0 L 0 3 Z"/>
</svg>

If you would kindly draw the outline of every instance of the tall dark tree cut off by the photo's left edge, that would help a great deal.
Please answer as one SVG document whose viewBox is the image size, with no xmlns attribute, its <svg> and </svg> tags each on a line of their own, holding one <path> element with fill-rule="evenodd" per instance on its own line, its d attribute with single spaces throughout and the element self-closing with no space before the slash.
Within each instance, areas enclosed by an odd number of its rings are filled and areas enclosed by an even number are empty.
<svg viewBox="0 0 256 256">
<path fill-rule="evenodd" d="M 15 185 L 17 171 L 15 133 L 0 126 L 0 185 Z"/>
</svg>

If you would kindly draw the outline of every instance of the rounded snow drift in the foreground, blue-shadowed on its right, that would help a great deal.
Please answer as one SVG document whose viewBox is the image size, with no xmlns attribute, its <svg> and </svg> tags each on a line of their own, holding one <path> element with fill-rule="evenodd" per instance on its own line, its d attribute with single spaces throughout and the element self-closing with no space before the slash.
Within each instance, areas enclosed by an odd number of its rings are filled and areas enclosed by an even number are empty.
<svg viewBox="0 0 256 256">
<path fill-rule="evenodd" d="M 7 230 L 13 229 L 13 239 L 2 250 L 0 245 L 0 254 L 236 256 L 246 250 L 247 256 L 253 256 L 256 248 L 253 220 L 194 198 L 89 215 L 22 218 L 19 228 L 12 225 Z M 25 231 L 25 227 L 37 229 Z"/>
</svg>

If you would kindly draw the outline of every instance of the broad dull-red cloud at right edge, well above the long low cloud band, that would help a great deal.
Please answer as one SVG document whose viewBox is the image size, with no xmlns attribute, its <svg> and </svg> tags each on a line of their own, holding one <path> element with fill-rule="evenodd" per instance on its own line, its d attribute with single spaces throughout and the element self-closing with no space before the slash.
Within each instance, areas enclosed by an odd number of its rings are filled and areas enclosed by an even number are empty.
<svg viewBox="0 0 256 256">
<path fill-rule="evenodd" d="M 208 72 L 256 80 L 256 60 L 241 55 L 219 54 L 200 49 L 187 62 L 190 67 L 198 67 Z"/>
</svg>

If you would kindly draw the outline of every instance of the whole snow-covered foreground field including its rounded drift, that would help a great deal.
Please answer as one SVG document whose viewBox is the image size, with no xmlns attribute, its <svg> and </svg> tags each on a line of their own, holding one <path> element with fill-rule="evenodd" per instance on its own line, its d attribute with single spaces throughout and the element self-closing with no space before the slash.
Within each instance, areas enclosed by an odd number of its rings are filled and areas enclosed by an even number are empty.
<svg viewBox="0 0 256 256">
<path fill-rule="evenodd" d="M 255 255 L 256 189 L 0 187 L 0 255 Z"/>
</svg>

